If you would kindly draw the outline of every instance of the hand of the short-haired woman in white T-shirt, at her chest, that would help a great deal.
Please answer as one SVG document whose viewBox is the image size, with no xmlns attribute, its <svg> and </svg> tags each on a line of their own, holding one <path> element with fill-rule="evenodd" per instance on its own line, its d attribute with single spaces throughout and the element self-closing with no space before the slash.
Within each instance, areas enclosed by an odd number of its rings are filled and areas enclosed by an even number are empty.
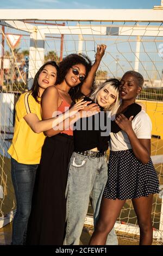
<svg viewBox="0 0 163 256">
<path fill-rule="evenodd" d="M 128 120 L 124 114 L 120 114 L 118 115 L 118 117 L 116 117 L 115 122 L 118 126 L 120 126 L 120 128 L 123 131 L 128 133 L 131 129 L 133 129 L 131 124 L 132 119 L 133 119 L 133 115 Z"/>
</svg>

